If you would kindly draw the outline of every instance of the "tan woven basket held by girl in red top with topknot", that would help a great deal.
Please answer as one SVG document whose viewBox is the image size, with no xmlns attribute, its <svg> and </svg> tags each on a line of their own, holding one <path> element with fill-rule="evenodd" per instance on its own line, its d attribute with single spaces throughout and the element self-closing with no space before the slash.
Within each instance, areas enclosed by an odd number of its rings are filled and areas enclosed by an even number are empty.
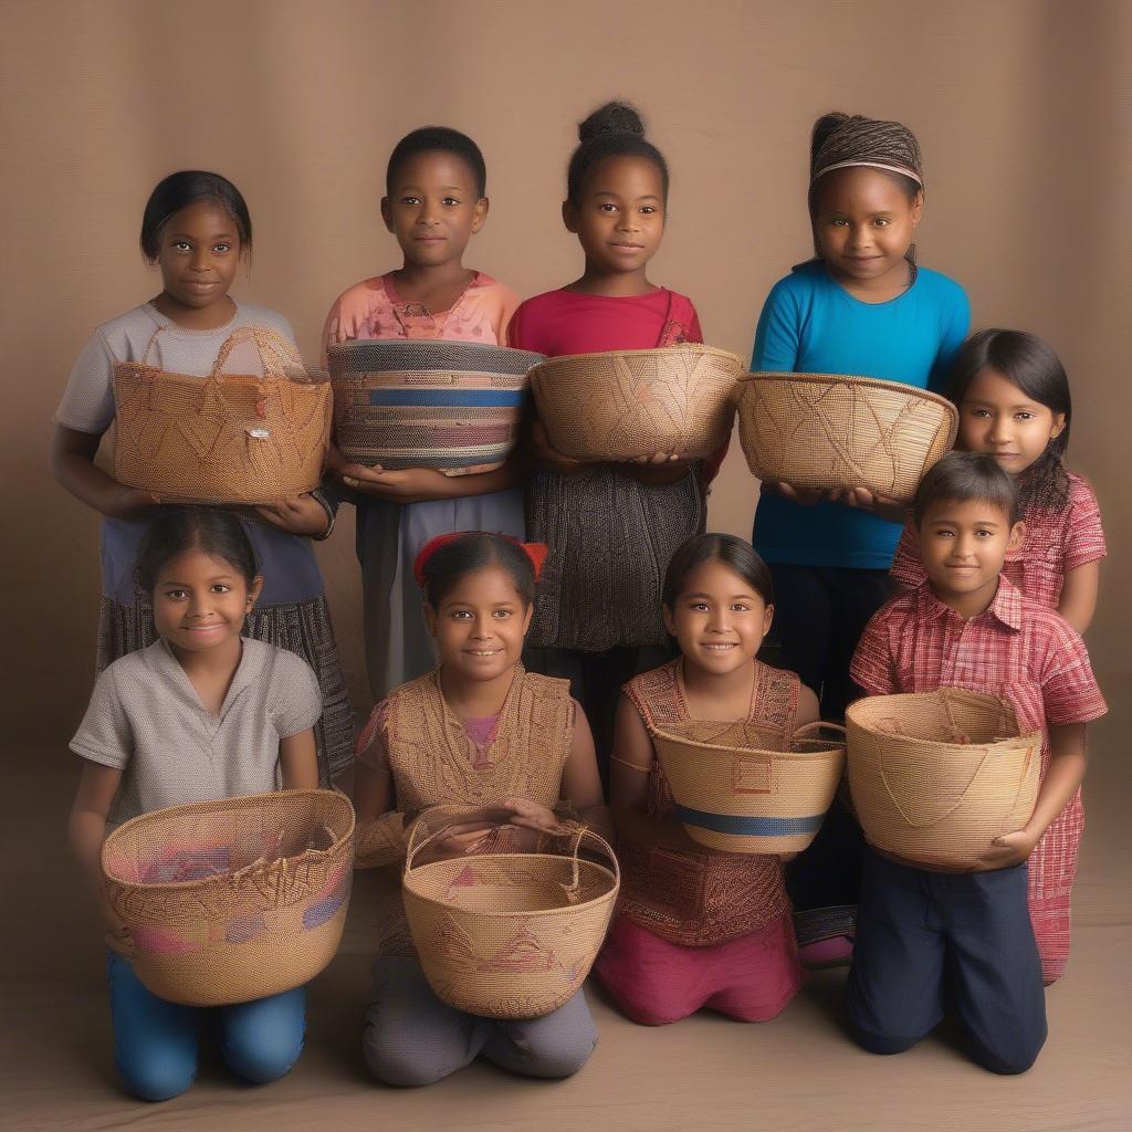
<svg viewBox="0 0 1132 1132">
<path fill-rule="evenodd" d="M 564 456 L 614 463 L 675 453 L 706 456 L 735 420 L 736 354 L 711 346 L 551 358 L 531 371 L 539 418 Z"/>
</svg>

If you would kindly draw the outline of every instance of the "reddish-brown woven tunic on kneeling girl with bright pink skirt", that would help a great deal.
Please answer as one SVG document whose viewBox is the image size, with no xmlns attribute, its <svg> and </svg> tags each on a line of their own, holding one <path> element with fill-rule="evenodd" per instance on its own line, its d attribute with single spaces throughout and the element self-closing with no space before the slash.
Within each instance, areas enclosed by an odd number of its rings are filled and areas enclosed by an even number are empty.
<svg viewBox="0 0 1132 1132">
<path fill-rule="evenodd" d="M 653 727 L 688 720 L 677 659 L 625 685 L 625 694 Z M 800 681 L 794 672 L 755 661 L 748 722 L 782 736 L 795 731 Z M 672 791 L 659 761 L 649 772 L 650 816 L 672 812 Z M 662 940 L 686 947 L 722 943 L 790 911 L 778 857 L 684 852 L 659 846 L 623 846 L 619 910 Z"/>
</svg>

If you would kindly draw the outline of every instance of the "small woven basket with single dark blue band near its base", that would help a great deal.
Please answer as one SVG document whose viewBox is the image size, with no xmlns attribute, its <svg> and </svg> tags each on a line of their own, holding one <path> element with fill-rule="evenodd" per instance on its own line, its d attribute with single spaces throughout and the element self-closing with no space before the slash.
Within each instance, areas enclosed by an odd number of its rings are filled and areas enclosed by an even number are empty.
<svg viewBox="0 0 1132 1132">
<path fill-rule="evenodd" d="M 654 728 L 653 745 L 676 815 L 693 841 L 729 852 L 800 852 L 817 835 L 844 767 L 843 743 L 788 740 L 749 723 L 688 720 Z M 835 728 L 840 730 L 840 728 Z"/>
</svg>

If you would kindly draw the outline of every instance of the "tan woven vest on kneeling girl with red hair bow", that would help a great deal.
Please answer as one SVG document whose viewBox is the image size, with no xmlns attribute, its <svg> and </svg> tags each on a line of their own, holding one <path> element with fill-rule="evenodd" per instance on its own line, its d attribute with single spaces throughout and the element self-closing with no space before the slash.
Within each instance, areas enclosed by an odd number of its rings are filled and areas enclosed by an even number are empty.
<svg viewBox="0 0 1132 1132">
<path fill-rule="evenodd" d="M 403 684 L 385 701 L 385 747 L 397 809 L 479 807 L 513 796 L 554 807 L 574 741 L 573 723 L 569 680 L 528 672 L 522 664 L 515 667 L 483 747 L 472 741 L 445 701 L 439 670 Z M 395 880 L 395 893 L 379 898 L 380 950 L 413 954 L 401 902 L 401 866 L 386 880 Z"/>
</svg>

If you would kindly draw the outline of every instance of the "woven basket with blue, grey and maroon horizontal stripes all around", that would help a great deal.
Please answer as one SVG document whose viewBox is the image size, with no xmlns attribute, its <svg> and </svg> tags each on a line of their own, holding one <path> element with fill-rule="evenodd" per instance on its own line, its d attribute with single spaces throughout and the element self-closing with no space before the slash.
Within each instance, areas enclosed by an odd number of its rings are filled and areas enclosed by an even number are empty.
<svg viewBox="0 0 1132 1132">
<path fill-rule="evenodd" d="M 474 342 L 342 342 L 327 349 L 343 455 L 448 475 L 498 468 L 518 439 L 542 354 Z"/>
</svg>

